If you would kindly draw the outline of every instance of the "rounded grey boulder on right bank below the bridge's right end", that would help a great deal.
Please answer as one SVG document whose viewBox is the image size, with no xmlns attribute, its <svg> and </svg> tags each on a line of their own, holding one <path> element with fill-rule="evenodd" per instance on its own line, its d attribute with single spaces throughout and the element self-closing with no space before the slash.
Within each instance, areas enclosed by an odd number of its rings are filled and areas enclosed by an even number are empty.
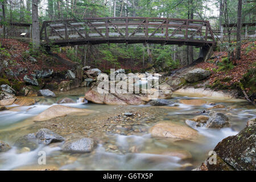
<svg viewBox="0 0 256 182">
<path fill-rule="evenodd" d="M 203 80 L 204 78 L 207 78 L 209 76 L 210 76 L 210 71 L 207 71 L 201 68 L 196 68 L 189 71 L 184 78 L 187 82 L 195 82 L 195 81 Z"/>
</svg>

